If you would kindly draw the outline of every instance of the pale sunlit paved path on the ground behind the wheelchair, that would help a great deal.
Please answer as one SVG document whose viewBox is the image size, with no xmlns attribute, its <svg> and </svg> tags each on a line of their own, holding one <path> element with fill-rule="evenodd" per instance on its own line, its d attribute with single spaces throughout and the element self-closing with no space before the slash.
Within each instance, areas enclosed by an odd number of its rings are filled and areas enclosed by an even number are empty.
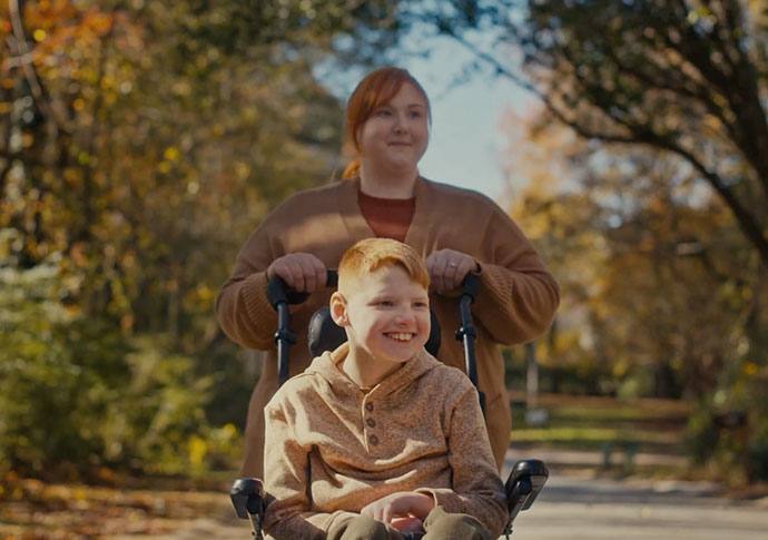
<svg viewBox="0 0 768 540">
<path fill-rule="evenodd" d="M 514 540 L 768 539 L 768 500 L 729 501 L 717 497 L 715 485 L 703 482 L 567 475 L 561 472 L 563 463 L 572 465 L 588 456 L 539 451 L 526 455 L 547 459 L 551 474 L 533 507 L 515 520 Z M 518 458 L 510 454 L 505 470 Z M 249 527 L 235 519 L 230 509 L 219 509 L 216 516 L 190 523 L 173 538 L 246 540 Z"/>
</svg>

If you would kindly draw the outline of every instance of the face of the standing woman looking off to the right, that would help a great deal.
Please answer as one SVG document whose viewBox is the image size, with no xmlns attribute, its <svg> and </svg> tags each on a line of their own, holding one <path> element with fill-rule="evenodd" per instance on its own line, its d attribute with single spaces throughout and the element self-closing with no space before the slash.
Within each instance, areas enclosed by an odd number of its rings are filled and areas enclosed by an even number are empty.
<svg viewBox="0 0 768 540">
<path fill-rule="evenodd" d="M 357 134 L 365 167 L 404 171 L 424 155 L 430 138 L 429 109 L 421 91 L 404 82 L 388 104 L 373 111 Z"/>
</svg>

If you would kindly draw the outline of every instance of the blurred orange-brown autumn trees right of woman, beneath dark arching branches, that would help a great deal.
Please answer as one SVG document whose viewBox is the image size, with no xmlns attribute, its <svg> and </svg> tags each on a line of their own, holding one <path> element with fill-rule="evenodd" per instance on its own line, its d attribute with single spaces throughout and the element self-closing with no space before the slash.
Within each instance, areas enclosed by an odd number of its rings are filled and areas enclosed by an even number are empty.
<svg viewBox="0 0 768 540">
<path fill-rule="evenodd" d="M 732 213 L 675 156 L 588 143 L 535 110 L 505 131 L 511 214 L 561 286 L 545 365 L 581 391 L 687 399 L 692 455 L 764 478 L 764 284 Z M 749 419 L 736 443 L 712 423 L 732 411 Z"/>
</svg>

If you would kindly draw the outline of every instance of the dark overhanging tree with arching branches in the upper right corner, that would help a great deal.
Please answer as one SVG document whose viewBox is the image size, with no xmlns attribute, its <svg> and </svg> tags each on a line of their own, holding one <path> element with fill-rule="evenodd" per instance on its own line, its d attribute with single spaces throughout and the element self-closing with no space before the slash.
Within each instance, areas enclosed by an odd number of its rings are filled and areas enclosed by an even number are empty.
<svg viewBox="0 0 768 540">
<path fill-rule="evenodd" d="M 690 164 L 768 265 L 768 13 L 759 1 L 484 2 L 476 26 L 440 29 L 535 92 L 588 139 L 643 145 Z M 496 51 L 516 47 L 528 78 Z"/>
</svg>

